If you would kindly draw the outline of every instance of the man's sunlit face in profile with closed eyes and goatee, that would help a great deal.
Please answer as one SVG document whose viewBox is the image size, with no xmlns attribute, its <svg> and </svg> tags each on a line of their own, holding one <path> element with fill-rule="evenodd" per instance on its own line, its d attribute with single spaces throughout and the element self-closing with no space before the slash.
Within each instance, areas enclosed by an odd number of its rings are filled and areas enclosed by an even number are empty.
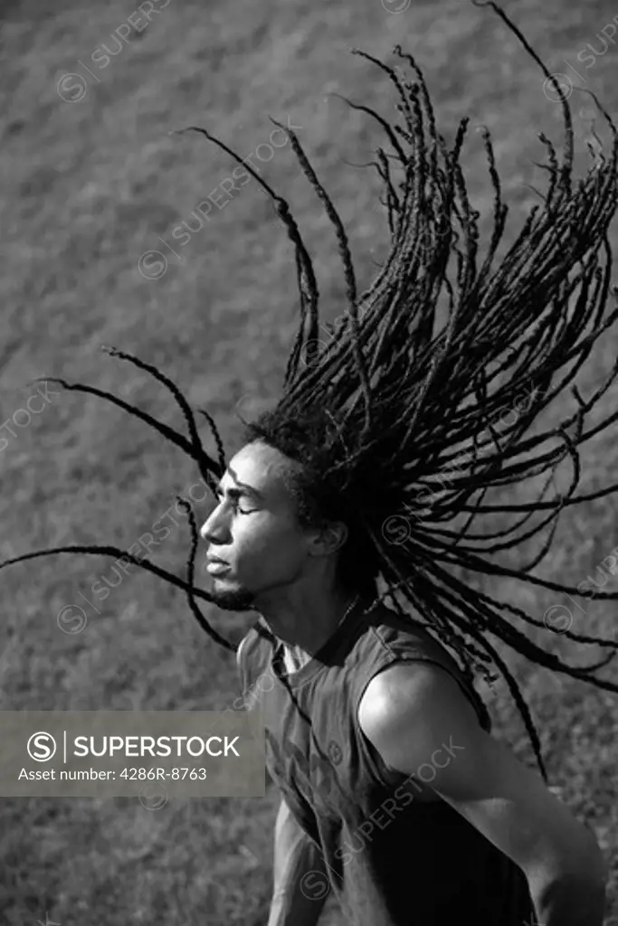
<svg viewBox="0 0 618 926">
<path fill-rule="evenodd" d="M 268 444 L 246 444 L 221 478 L 219 504 L 200 531 L 208 557 L 226 564 L 221 571 L 208 568 L 219 607 L 258 610 L 260 599 L 266 602 L 268 593 L 295 582 L 310 565 L 315 532 L 303 532 L 296 522 L 283 476 L 290 462 Z"/>
</svg>

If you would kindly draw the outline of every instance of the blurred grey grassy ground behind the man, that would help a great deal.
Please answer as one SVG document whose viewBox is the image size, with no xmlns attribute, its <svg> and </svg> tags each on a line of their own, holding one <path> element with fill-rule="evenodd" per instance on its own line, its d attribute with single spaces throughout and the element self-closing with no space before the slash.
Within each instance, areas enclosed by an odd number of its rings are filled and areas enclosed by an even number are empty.
<svg viewBox="0 0 618 926">
<path fill-rule="evenodd" d="M 537 133 L 560 141 L 560 106 L 490 9 L 464 0 L 415 0 L 394 12 L 399 6 L 405 3 L 163 0 L 140 11 L 115 0 L 5 0 L 3 421 L 25 407 L 34 392 L 27 382 L 56 375 L 112 390 L 182 429 L 164 389 L 98 350 L 113 344 L 156 363 L 194 407 L 208 407 L 235 449 L 233 407 L 242 399 L 251 412 L 276 394 L 296 329 L 291 245 L 255 181 L 223 196 L 221 182 L 235 167 L 229 156 L 196 134 L 169 133 L 202 125 L 246 156 L 269 142 L 269 115 L 291 119 L 340 207 L 365 285 L 384 253 L 385 221 L 372 172 L 345 162 L 366 162 L 382 138 L 329 94 L 386 114 L 393 97 L 376 69 L 347 54 L 352 46 L 394 60 L 392 46 L 401 42 L 417 56 L 449 139 L 465 114 L 473 126 L 489 126 L 512 237 L 536 201 L 531 185 L 544 182 L 533 163 L 543 156 Z M 578 58 L 588 43 L 602 51 L 598 33 L 612 21 L 612 4 L 520 0 L 506 8 L 550 70 L 599 94 L 615 116 L 614 46 L 592 65 L 589 49 Z M 115 30 L 129 36 L 120 47 L 110 37 Z M 118 52 L 106 65 L 104 44 Z M 575 89 L 572 103 L 585 164 L 589 101 Z M 466 151 L 473 205 L 486 211 L 491 189 L 480 135 L 471 131 Z M 333 236 L 289 145 L 276 148 L 269 163 L 258 157 L 254 163 L 301 222 L 325 311 L 338 314 L 343 283 Z M 192 210 L 216 190 L 219 205 L 199 230 Z M 179 246 L 172 232 L 183 220 L 195 232 Z M 167 266 L 147 253 L 153 250 Z M 617 343 L 615 332 L 606 335 L 583 388 L 601 382 Z M 606 395 L 606 409 L 617 397 L 615 389 Z M 15 437 L 2 433 L 3 558 L 70 543 L 127 548 L 196 479 L 176 448 L 94 396 L 62 391 Z M 609 481 L 618 462 L 612 432 L 593 443 L 586 490 Z M 198 514 L 206 513 L 202 506 Z M 182 528 L 172 532 L 155 560 L 180 571 L 187 540 Z M 542 574 L 576 584 L 616 544 L 615 500 L 570 511 Z M 110 576 L 110 566 L 105 557 L 49 557 L 2 572 L 0 707 L 229 706 L 239 694 L 233 657 L 209 644 L 183 595 L 151 575 L 133 571 L 97 603 L 100 613 L 85 607 L 81 633 L 60 632 L 60 609 L 83 606 L 80 594 L 92 600 L 91 585 Z M 552 604 L 568 604 L 504 582 L 499 593 L 539 617 Z M 609 631 L 612 605 L 582 606 L 586 613 L 568 606 L 574 630 Z M 234 640 L 251 622 L 207 613 Z M 557 634 L 536 636 L 567 651 Z M 542 733 L 552 781 L 613 859 L 609 912 L 618 916 L 616 699 L 510 661 Z M 530 762 L 523 725 L 499 686 L 491 709 L 499 735 Z M 269 903 L 276 803 L 270 786 L 261 799 L 174 800 L 157 812 L 129 798 L 1 799 L 0 920 L 17 926 L 44 920 L 46 911 L 62 926 L 258 926 Z M 330 919 L 337 921 L 335 912 Z"/>
</svg>

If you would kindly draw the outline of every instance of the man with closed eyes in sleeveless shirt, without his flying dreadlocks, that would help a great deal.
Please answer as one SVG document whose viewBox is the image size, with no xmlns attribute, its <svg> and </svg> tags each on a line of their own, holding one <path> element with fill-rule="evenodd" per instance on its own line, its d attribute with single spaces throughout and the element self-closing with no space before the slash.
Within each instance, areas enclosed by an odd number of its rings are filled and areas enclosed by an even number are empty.
<svg viewBox="0 0 618 926">
<path fill-rule="evenodd" d="M 300 527 L 298 475 L 246 444 L 201 529 L 213 601 L 259 611 L 280 644 L 253 628 L 238 651 L 245 691 L 276 677 L 259 695 L 283 796 L 269 926 L 316 923 L 326 877 L 353 926 L 601 926 L 594 837 L 484 729 L 447 651 L 342 584 L 347 524 Z"/>
</svg>

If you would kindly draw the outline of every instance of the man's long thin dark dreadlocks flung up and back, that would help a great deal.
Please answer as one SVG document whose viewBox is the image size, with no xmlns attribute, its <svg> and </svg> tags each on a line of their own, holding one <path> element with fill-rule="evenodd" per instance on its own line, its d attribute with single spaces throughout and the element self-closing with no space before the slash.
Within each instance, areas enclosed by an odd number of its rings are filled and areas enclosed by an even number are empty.
<svg viewBox="0 0 618 926">
<path fill-rule="evenodd" d="M 473 2 L 491 6 L 547 81 L 558 87 L 502 9 L 493 2 Z M 358 589 L 362 575 L 364 587 L 375 591 L 375 582 L 381 578 L 386 591 L 378 600 L 389 595 L 400 613 L 406 603 L 413 607 L 423 616 L 426 629 L 458 657 L 468 678 L 482 673 L 493 681 L 496 676 L 488 667 L 498 668 L 523 716 L 547 781 L 530 711 L 489 635 L 539 666 L 613 692 L 618 692 L 618 685 L 599 679 L 595 672 L 615 656 L 618 642 L 566 631 L 564 635 L 577 643 L 601 644 L 612 650 L 610 657 L 594 665 L 569 665 L 533 643 L 509 618 L 515 616 L 541 628 L 543 621 L 473 589 L 462 581 L 460 572 L 511 577 L 555 592 L 583 594 L 540 579 L 532 570 L 547 556 L 564 508 L 618 491 L 618 483 L 613 483 L 593 493 L 574 494 L 580 479 L 579 447 L 618 419 L 616 412 L 586 430 L 586 417 L 618 376 L 618 362 L 587 400 L 572 386 L 576 408 L 560 424 L 536 432 L 532 425 L 573 382 L 600 335 L 618 318 L 618 309 L 605 313 L 612 269 L 608 229 L 618 203 L 618 133 L 591 94 L 612 131 L 612 153 L 607 158 L 602 149 L 590 148 L 592 163 L 586 177 L 574 186 L 571 111 L 558 87 L 564 122 L 561 157 L 540 134 L 549 161 L 544 165 L 549 173 L 548 192 L 542 206 L 531 209 L 515 242 L 495 266 L 508 206 L 502 201 L 491 136 L 485 129 L 494 202 L 493 230 L 481 262 L 479 214 L 470 204 L 460 167 L 468 119 L 461 119 L 455 142 L 448 148 L 436 130 L 421 69 L 398 45 L 394 53 L 404 62 L 397 70 L 354 51 L 392 81 L 399 116 L 398 124 L 390 125 L 370 107 L 351 104 L 379 123 L 392 149 L 378 148 L 373 162 L 384 183 L 391 248 L 376 279 L 362 294 L 357 292 L 347 235 L 332 200 L 294 131 L 275 123 L 286 132 L 322 201 L 343 264 L 347 308 L 334 326 L 324 329 L 329 334 L 326 343 L 318 337 L 316 275 L 296 221 L 287 202 L 244 164 L 270 194 L 294 244 L 301 315 L 285 369 L 283 395 L 273 410 L 256 421 L 243 421 L 246 439 L 264 440 L 303 464 L 302 472 L 295 473 L 290 483 L 301 523 L 328 517 L 343 519 L 350 526 L 341 554 L 345 582 L 357 582 Z M 201 132 L 244 163 L 205 129 L 191 126 L 183 131 Z M 98 395 L 144 420 L 195 459 L 212 489 L 213 477 L 221 478 L 226 463 L 219 432 L 208 412 L 200 409 L 214 435 L 216 459 L 202 446 L 193 412 L 169 378 L 137 357 L 103 349 L 167 386 L 183 412 L 189 438 L 94 387 L 58 379 L 52 382 Z M 513 407 L 523 392 L 530 396 L 523 413 L 511 425 L 498 429 L 498 411 Z M 548 498 L 564 461 L 573 470 L 570 484 Z M 544 483 L 532 502 L 485 504 L 491 489 L 542 476 Z M 120 556 L 182 588 L 202 628 L 216 643 L 233 649 L 209 626 L 197 606 L 197 598 L 212 598 L 194 585 L 195 517 L 190 502 L 180 501 L 188 509 L 192 532 L 186 581 L 146 558 L 109 545 L 41 550 L 8 559 L 0 568 L 57 553 Z M 483 532 L 478 526 L 484 515 L 511 521 L 499 531 L 486 528 Z M 535 521 L 536 515 L 540 519 Z M 520 569 L 488 558 L 544 532 L 547 537 L 540 549 Z M 618 593 L 596 597 L 615 600 Z"/>
</svg>

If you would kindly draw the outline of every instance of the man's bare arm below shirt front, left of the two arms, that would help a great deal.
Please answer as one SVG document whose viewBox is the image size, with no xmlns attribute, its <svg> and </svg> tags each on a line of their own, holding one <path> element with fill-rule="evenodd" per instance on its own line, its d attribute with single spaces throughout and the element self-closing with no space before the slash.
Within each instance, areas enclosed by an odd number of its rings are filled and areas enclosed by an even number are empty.
<svg viewBox="0 0 618 926">
<path fill-rule="evenodd" d="M 274 830 L 274 889 L 268 926 L 315 926 L 327 895 L 320 850 L 282 800 Z"/>
</svg>

